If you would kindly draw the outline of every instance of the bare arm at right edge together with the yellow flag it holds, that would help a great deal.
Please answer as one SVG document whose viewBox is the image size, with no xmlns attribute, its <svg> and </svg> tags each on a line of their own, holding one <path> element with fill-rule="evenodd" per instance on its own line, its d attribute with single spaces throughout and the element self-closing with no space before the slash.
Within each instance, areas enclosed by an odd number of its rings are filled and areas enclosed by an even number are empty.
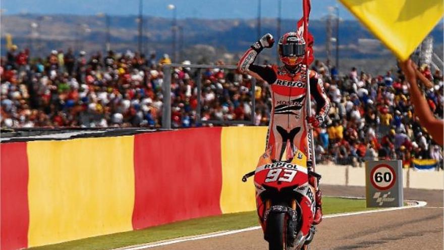
<svg viewBox="0 0 444 250">
<path fill-rule="evenodd" d="M 399 66 L 410 83 L 409 92 L 415 116 L 433 140 L 444 145 L 444 121 L 433 116 L 417 79 L 428 87 L 433 85 L 410 59 L 418 45 L 442 20 L 444 2 L 428 0 L 427 5 L 424 5 L 424 1 L 404 0 L 391 1 L 390 4 L 384 0 L 339 1 L 398 58 Z"/>
</svg>

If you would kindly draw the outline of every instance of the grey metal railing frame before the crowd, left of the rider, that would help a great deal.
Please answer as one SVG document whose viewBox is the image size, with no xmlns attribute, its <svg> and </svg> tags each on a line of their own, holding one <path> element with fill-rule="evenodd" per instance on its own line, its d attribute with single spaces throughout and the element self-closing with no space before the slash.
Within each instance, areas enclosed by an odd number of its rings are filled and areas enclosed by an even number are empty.
<svg viewBox="0 0 444 250">
<path fill-rule="evenodd" d="M 254 97 L 254 90 L 256 89 L 256 80 L 252 79 L 250 97 L 251 97 L 251 120 L 250 121 L 240 121 L 240 120 L 201 120 L 201 98 L 202 98 L 202 69 L 229 69 L 236 70 L 235 65 L 197 65 L 197 64 L 164 64 L 163 66 L 163 84 L 162 84 L 162 94 L 163 94 L 163 107 L 162 107 L 162 128 L 171 129 L 171 69 L 172 68 L 192 68 L 197 70 L 197 76 L 195 82 L 197 84 L 197 111 L 196 111 L 196 122 L 201 124 L 217 124 L 217 125 L 235 125 L 235 124 L 254 124 L 255 110 L 256 110 L 256 100 Z"/>
</svg>

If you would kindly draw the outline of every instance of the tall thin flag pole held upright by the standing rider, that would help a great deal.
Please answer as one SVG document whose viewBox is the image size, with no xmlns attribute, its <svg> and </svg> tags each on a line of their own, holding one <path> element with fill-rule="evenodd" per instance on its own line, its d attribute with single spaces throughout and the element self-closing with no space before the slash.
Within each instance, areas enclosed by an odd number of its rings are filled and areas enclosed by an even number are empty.
<svg viewBox="0 0 444 250">
<path fill-rule="evenodd" d="M 304 13 L 304 40 L 305 40 L 305 79 L 307 83 L 307 94 L 306 94 L 306 109 L 307 109 L 307 116 L 311 117 L 311 90 L 310 90 L 310 73 L 308 69 L 308 58 L 309 58 L 309 49 L 308 49 L 308 5 L 306 1 L 309 0 L 302 0 L 302 8 Z M 311 169 L 311 171 L 315 172 L 316 170 L 316 158 L 314 155 L 314 140 L 313 140 L 313 129 L 311 126 L 308 126 L 307 119 L 305 119 L 305 123 L 308 127 L 308 135 L 307 135 L 307 144 L 308 144 L 308 164 L 307 167 Z M 314 188 L 317 190 L 317 181 L 314 183 Z"/>
</svg>

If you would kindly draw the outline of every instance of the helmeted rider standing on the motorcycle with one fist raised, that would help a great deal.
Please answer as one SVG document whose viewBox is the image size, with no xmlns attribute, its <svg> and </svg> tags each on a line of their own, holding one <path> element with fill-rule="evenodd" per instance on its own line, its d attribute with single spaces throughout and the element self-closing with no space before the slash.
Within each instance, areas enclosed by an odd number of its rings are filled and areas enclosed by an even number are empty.
<svg viewBox="0 0 444 250">
<path fill-rule="evenodd" d="M 330 103 L 321 77 L 309 70 L 310 93 L 316 102 L 317 114 L 307 117 L 305 107 L 307 67 L 303 64 L 305 41 L 298 33 L 288 32 L 279 39 L 279 59 L 284 66 L 253 64 L 262 49 L 272 47 L 273 43 L 271 34 L 262 36 L 244 53 L 238 63 L 238 69 L 241 73 L 248 73 L 270 84 L 272 107 L 266 148 L 271 151 L 271 159 L 282 160 L 286 148 L 287 152 L 293 152 L 298 148 L 307 155 L 309 131 L 305 119 L 311 127 L 319 127 L 328 114 Z M 315 181 L 314 177 L 309 179 L 309 183 L 313 186 Z M 315 196 L 316 212 L 313 224 L 316 225 L 322 220 L 322 194 L 319 189 L 316 190 Z"/>
</svg>

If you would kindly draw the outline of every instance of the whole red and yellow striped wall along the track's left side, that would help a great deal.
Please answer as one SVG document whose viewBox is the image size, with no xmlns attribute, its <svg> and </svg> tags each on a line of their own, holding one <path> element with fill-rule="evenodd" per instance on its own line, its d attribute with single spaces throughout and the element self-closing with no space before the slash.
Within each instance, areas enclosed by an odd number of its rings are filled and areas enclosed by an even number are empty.
<svg viewBox="0 0 444 250">
<path fill-rule="evenodd" d="M 255 209 L 266 127 L 0 144 L 1 249 Z"/>
</svg>

